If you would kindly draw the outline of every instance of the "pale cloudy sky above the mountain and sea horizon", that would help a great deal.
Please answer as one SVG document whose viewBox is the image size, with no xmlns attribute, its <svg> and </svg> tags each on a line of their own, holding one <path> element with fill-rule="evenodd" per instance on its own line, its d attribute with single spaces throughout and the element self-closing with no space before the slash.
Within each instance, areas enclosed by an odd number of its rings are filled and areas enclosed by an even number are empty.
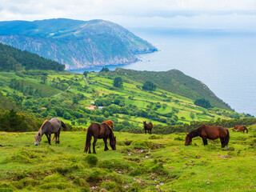
<svg viewBox="0 0 256 192">
<path fill-rule="evenodd" d="M 256 0 L 0 0 L 0 21 L 104 19 L 122 26 L 256 31 Z"/>
</svg>

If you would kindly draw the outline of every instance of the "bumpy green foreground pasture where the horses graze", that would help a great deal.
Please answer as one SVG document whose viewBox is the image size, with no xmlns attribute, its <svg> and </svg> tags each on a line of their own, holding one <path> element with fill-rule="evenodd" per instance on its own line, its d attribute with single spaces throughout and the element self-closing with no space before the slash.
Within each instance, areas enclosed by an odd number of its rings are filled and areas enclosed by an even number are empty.
<svg viewBox="0 0 256 192">
<path fill-rule="evenodd" d="M 117 150 L 84 154 L 86 132 L 61 132 L 60 144 L 34 133 L 0 133 L 0 191 L 254 191 L 256 126 L 230 130 L 229 148 L 186 134 L 115 132 Z"/>
</svg>

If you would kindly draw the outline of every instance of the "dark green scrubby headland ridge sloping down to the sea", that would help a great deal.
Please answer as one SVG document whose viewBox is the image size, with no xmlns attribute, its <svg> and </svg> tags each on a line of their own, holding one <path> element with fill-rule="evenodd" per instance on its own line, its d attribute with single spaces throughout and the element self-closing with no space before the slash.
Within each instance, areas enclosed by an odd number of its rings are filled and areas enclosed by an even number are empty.
<svg viewBox="0 0 256 192">
<path fill-rule="evenodd" d="M 118 68 L 110 72 L 110 76 L 113 74 L 142 83 L 146 81 L 154 82 L 162 90 L 191 98 L 194 101 L 198 98 L 205 98 L 210 101 L 212 106 L 231 110 L 230 106 L 222 102 L 203 82 L 191 78 L 179 70 L 156 72 Z"/>
</svg>

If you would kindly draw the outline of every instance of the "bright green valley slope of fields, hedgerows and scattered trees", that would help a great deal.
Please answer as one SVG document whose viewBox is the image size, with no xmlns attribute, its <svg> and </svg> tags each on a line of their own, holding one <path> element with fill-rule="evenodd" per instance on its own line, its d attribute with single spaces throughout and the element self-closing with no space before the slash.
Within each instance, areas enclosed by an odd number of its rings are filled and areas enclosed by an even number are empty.
<svg viewBox="0 0 256 192">
<path fill-rule="evenodd" d="M 0 72 L 2 94 L 12 99 L 23 111 L 38 118 L 59 117 L 74 126 L 89 126 L 109 118 L 115 130 L 140 129 L 142 121 L 154 125 L 190 124 L 218 118 L 244 118 L 232 110 L 195 106 L 194 100 L 160 88 L 142 90 L 142 82 L 124 78 L 122 88 L 113 86 L 114 75 L 90 73 L 89 86 L 82 74 L 54 71 Z M 86 110 L 95 102 L 102 110 Z M 78 120 L 82 118 L 85 121 Z"/>
</svg>

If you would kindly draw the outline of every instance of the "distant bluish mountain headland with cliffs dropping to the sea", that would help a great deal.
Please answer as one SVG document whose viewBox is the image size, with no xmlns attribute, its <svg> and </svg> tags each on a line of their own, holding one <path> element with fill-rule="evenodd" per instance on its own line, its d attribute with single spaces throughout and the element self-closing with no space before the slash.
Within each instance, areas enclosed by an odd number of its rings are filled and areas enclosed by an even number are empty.
<svg viewBox="0 0 256 192">
<path fill-rule="evenodd" d="M 66 70 L 136 62 L 157 50 L 122 26 L 66 18 L 0 22 L 0 42 L 66 65 Z"/>
</svg>

